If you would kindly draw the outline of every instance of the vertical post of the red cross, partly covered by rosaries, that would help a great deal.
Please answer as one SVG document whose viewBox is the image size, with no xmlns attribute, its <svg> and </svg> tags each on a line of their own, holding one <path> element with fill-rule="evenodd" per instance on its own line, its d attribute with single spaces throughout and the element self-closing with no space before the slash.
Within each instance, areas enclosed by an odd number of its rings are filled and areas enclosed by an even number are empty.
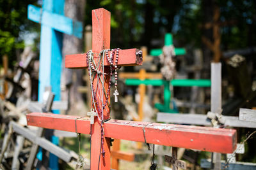
<svg viewBox="0 0 256 170">
<path fill-rule="evenodd" d="M 100 53 L 101 50 L 110 48 L 110 12 L 100 8 L 92 10 L 92 51 Z M 104 88 L 108 91 L 109 75 L 104 75 Z M 97 78 L 93 80 L 93 88 L 96 89 Z M 101 86 L 101 84 L 99 84 Z M 103 87 L 99 87 L 102 90 Z M 97 92 L 96 92 L 97 93 Z M 98 99 L 99 106 L 102 101 Z M 103 102 L 106 101 L 104 96 Z M 110 97 L 109 97 L 110 102 Z M 92 103 L 92 108 L 93 103 Z M 109 107 L 106 105 L 104 110 L 104 120 L 109 118 Z M 95 124 L 92 125 L 92 147 L 91 147 L 91 169 L 110 169 L 110 138 L 104 138 L 104 145 L 102 150 L 105 151 L 105 157 L 102 157 L 101 146 L 101 126 L 97 117 L 95 117 Z M 100 160 L 98 159 L 100 157 Z M 93 158 L 93 159 L 92 159 Z"/>
</svg>

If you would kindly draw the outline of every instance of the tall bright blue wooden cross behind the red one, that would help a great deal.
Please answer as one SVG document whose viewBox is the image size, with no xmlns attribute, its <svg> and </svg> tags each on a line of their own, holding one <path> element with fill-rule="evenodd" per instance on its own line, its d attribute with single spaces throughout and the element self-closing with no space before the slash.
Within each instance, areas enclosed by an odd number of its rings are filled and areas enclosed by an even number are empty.
<svg viewBox="0 0 256 170">
<path fill-rule="evenodd" d="M 42 8 L 29 4 L 28 18 L 41 24 L 40 69 L 38 101 L 42 102 L 45 87 L 52 87 L 54 101 L 60 101 L 61 60 L 63 33 L 82 38 L 83 24 L 64 16 L 65 0 L 44 0 Z M 59 113 L 58 110 L 54 113 Z M 58 145 L 58 138 L 52 136 Z M 58 169 L 58 158 L 51 155 L 49 166 Z"/>
</svg>

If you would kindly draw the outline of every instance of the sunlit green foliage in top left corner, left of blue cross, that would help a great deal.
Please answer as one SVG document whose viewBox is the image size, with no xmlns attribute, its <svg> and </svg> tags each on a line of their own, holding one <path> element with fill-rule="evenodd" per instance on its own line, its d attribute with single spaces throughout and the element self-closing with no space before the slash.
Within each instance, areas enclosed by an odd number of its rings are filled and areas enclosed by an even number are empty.
<svg viewBox="0 0 256 170">
<path fill-rule="evenodd" d="M 24 40 L 20 38 L 20 34 L 31 30 L 27 18 L 28 4 L 36 2 L 36 0 L 0 0 L 0 56 L 6 54 L 9 60 L 17 60 L 17 52 L 24 48 Z M 2 60 L 0 64 L 1 62 Z"/>
</svg>

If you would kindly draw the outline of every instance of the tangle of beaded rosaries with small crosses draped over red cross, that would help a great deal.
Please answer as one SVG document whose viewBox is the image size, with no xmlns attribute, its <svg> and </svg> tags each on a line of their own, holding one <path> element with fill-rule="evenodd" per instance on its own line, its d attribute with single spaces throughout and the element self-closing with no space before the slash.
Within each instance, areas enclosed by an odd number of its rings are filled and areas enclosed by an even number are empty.
<svg viewBox="0 0 256 170">
<path fill-rule="evenodd" d="M 88 112 L 87 115 L 90 116 L 90 124 L 94 124 L 94 116 L 97 116 L 100 126 L 101 126 L 101 145 L 100 145 L 100 151 L 102 154 L 102 157 L 105 157 L 105 151 L 103 148 L 104 144 L 104 116 L 103 111 L 106 110 L 106 106 L 108 104 L 108 107 L 110 108 L 109 104 L 109 94 L 110 94 L 110 87 L 111 87 L 111 78 L 113 76 L 113 71 L 115 71 L 115 102 L 118 101 L 118 90 L 117 90 L 117 70 L 118 70 L 118 55 L 119 55 L 120 48 L 115 49 L 108 49 L 108 50 L 102 50 L 100 53 L 93 53 L 92 50 L 88 51 L 86 53 L 86 64 L 88 66 L 88 72 L 90 77 L 90 87 L 92 92 L 92 102 L 93 102 L 93 109 L 91 109 L 91 112 Z M 109 55 L 110 52 L 110 55 Z M 98 54 L 98 55 L 97 55 Z M 97 56 L 95 56 L 97 55 Z M 107 69 L 105 73 L 104 71 L 104 57 L 106 56 L 108 63 L 109 63 L 109 69 Z M 114 62 L 115 57 L 115 62 Z M 97 61 L 95 61 L 97 59 Z M 108 90 L 104 88 L 104 75 L 109 75 L 109 83 L 108 83 Z M 93 81 L 97 79 L 97 84 L 93 85 Z M 95 81 L 94 81 L 95 83 Z M 101 84 L 102 92 L 99 90 L 99 86 Z M 104 101 L 104 96 L 106 97 Z M 100 101 L 99 101 L 100 100 Z M 101 104 L 100 104 L 101 103 Z M 100 106 L 101 105 L 101 106 Z M 106 110 L 108 111 L 108 110 Z"/>
</svg>

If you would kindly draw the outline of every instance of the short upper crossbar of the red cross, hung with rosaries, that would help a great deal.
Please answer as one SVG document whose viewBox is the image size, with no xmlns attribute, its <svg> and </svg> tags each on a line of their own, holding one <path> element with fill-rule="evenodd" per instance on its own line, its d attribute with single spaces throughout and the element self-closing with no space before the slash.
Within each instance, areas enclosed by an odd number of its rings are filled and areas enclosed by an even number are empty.
<svg viewBox="0 0 256 170">
<path fill-rule="evenodd" d="M 140 55 L 136 55 L 139 50 L 136 48 L 120 50 L 118 57 L 118 66 L 137 66 L 142 65 L 142 58 Z M 110 56 L 109 52 L 109 56 Z M 94 59 L 96 57 L 94 56 Z M 115 57 L 114 57 L 115 64 Z M 109 66 L 109 62 L 106 57 L 104 60 L 104 66 Z M 65 67 L 67 68 L 84 68 L 87 67 L 86 64 L 86 53 L 77 53 L 72 55 L 66 55 L 65 57 Z"/>
</svg>

